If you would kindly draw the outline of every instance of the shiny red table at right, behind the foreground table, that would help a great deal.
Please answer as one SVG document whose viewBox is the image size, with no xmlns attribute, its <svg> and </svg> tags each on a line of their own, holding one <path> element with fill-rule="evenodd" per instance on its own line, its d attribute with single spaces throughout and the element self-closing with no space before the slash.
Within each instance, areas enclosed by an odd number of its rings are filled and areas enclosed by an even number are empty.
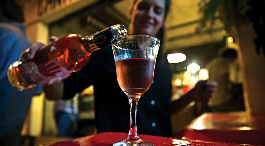
<svg viewBox="0 0 265 146">
<path fill-rule="evenodd" d="M 265 145 L 265 115 L 259 114 L 256 117 L 258 120 L 249 118 L 245 112 L 204 113 L 173 137 Z"/>
</svg>

